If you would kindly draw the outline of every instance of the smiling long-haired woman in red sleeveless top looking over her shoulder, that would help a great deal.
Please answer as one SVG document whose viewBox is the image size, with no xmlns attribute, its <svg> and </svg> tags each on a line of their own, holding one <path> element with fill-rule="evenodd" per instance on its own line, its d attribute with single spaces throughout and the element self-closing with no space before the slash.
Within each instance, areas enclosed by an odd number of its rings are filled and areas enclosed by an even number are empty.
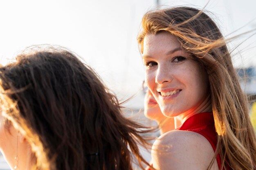
<svg viewBox="0 0 256 170">
<path fill-rule="evenodd" d="M 202 10 L 147 12 L 138 36 L 146 85 L 182 122 L 152 149 L 160 170 L 255 170 L 256 138 L 226 42 Z"/>
</svg>

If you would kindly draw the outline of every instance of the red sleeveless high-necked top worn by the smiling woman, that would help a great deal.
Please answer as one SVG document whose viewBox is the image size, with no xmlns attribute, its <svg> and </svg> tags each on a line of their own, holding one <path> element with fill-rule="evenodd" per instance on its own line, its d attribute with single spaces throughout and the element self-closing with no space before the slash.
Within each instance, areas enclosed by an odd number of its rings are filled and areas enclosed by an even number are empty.
<svg viewBox="0 0 256 170">
<path fill-rule="evenodd" d="M 187 130 L 196 132 L 204 136 L 210 143 L 215 152 L 217 145 L 217 133 L 214 126 L 214 119 L 212 112 L 203 112 L 189 117 L 179 128 L 176 130 Z M 220 169 L 221 159 L 218 154 L 217 157 L 218 167 Z M 150 170 L 150 168 L 148 168 Z M 227 167 L 229 170 L 229 167 Z"/>
</svg>

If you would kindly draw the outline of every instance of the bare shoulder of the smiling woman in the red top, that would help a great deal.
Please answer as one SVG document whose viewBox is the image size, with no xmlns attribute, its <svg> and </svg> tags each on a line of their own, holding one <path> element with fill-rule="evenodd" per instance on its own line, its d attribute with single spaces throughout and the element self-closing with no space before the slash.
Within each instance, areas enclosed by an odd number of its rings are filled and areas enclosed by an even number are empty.
<svg viewBox="0 0 256 170">
<path fill-rule="evenodd" d="M 209 141 L 190 131 L 167 132 L 152 147 L 153 165 L 159 170 L 206 170 L 213 157 Z M 218 170 L 216 159 L 211 170 Z"/>
</svg>

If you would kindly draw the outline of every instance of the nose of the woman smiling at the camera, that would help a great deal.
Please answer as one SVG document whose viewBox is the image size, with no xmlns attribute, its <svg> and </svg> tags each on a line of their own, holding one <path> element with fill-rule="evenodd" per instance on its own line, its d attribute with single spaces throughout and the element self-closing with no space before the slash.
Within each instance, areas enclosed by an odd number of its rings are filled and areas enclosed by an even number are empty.
<svg viewBox="0 0 256 170">
<path fill-rule="evenodd" d="M 155 83 L 163 85 L 165 83 L 171 82 L 173 76 L 171 70 L 166 65 L 158 65 L 157 74 L 155 76 Z"/>
</svg>

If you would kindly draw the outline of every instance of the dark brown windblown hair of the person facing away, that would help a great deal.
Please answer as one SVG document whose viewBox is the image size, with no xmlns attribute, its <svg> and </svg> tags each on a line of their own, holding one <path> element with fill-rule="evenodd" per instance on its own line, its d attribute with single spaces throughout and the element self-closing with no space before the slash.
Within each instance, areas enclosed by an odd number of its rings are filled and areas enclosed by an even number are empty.
<svg viewBox="0 0 256 170">
<path fill-rule="evenodd" d="M 116 96 L 88 65 L 53 48 L 16 60 L 0 67 L 0 101 L 31 144 L 34 169 L 132 170 L 134 156 L 146 163 L 137 144 L 145 145 L 140 134 L 148 130 L 122 115 Z"/>
</svg>

